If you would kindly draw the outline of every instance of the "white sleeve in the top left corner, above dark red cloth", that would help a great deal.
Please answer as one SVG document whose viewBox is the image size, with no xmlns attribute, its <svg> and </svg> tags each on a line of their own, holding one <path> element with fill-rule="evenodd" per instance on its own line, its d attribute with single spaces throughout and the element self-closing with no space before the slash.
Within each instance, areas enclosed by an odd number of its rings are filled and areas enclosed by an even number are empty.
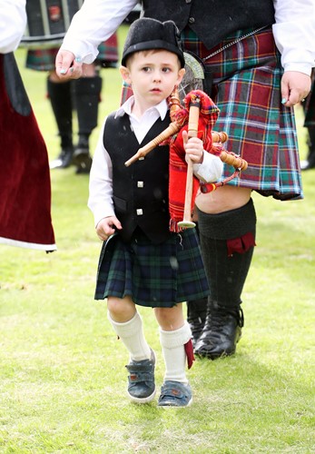
<svg viewBox="0 0 315 454">
<path fill-rule="evenodd" d="M 15 51 L 26 20 L 25 0 L 0 0 L 0 54 Z"/>
</svg>

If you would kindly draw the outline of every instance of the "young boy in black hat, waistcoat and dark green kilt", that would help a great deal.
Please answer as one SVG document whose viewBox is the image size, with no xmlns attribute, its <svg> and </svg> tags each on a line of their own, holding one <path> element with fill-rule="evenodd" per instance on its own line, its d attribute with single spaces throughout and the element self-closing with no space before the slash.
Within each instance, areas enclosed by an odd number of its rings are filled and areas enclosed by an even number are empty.
<svg viewBox="0 0 315 454">
<path fill-rule="evenodd" d="M 169 146 L 155 148 L 130 167 L 124 165 L 171 122 L 166 100 L 184 74 L 174 23 L 135 21 L 122 64 L 120 71 L 132 84 L 133 97 L 105 120 L 90 176 L 88 206 L 104 242 L 95 299 L 107 298 L 108 319 L 129 351 L 128 394 L 138 403 L 154 398 L 155 353 L 143 336 L 136 304 L 154 308 L 166 367 L 158 405 L 186 407 L 192 390 L 185 361 L 187 355 L 192 360 L 192 350 L 182 301 L 205 297 L 209 291 L 198 239 L 194 229 L 169 230 Z M 221 176 L 220 159 L 204 153 L 200 139 L 190 138 L 185 152 L 195 173 L 208 173 L 208 182 Z"/>
</svg>

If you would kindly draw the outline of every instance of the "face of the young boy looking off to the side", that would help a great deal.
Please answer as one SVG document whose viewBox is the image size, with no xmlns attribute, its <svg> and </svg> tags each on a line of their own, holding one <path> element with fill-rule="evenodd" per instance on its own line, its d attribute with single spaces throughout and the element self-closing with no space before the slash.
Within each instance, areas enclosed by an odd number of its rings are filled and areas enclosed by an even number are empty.
<svg viewBox="0 0 315 454">
<path fill-rule="evenodd" d="M 184 72 L 177 55 L 162 49 L 137 52 L 128 68 L 121 68 L 124 81 L 133 86 L 135 101 L 146 109 L 166 99 L 180 84 Z"/>
</svg>

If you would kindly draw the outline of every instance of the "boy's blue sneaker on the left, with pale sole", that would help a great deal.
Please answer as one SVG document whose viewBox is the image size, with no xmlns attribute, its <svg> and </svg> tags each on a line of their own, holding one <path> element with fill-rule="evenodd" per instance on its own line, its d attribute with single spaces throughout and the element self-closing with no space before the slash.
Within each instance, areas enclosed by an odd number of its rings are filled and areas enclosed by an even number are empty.
<svg viewBox="0 0 315 454">
<path fill-rule="evenodd" d="M 151 360 L 131 360 L 126 366 L 129 371 L 128 395 L 133 402 L 151 402 L 155 396 L 155 353 L 151 350 Z"/>
</svg>

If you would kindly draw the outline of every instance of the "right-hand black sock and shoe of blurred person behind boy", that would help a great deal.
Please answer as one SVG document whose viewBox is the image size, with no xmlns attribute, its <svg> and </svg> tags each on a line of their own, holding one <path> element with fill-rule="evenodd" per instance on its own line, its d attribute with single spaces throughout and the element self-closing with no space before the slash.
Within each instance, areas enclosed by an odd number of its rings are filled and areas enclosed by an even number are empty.
<svg viewBox="0 0 315 454">
<path fill-rule="evenodd" d="M 89 137 L 97 126 L 101 91 L 102 78 L 99 75 L 74 81 L 74 104 L 79 123 L 79 142 L 74 150 L 76 173 L 89 173 L 91 169 Z"/>
</svg>

